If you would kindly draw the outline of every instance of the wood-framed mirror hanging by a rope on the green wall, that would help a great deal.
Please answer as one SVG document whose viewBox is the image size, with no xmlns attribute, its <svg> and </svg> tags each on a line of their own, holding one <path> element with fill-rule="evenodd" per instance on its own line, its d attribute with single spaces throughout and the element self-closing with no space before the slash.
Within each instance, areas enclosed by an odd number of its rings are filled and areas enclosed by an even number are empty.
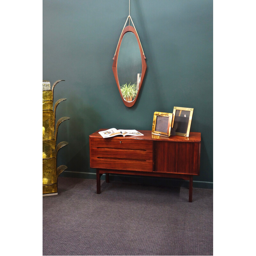
<svg viewBox="0 0 256 256">
<path fill-rule="evenodd" d="M 125 27 L 127 17 L 113 58 L 113 73 L 124 105 L 132 107 L 136 102 L 146 73 L 146 57 L 138 33 L 132 26 Z"/>
</svg>

